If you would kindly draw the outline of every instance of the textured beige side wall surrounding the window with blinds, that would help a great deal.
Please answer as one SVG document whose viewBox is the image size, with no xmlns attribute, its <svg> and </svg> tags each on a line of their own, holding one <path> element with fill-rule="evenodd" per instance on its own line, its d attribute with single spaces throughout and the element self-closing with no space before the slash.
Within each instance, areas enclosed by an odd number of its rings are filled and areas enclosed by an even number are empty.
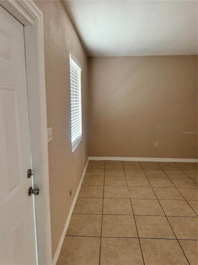
<svg viewBox="0 0 198 265">
<path fill-rule="evenodd" d="M 87 56 L 61 1 L 35 1 L 43 13 L 52 257 L 82 176 L 87 153 Z M 83 139 L 71 151 L 70 66 L 72 53 L 82 66 Z M 77 162 L 78 171 L 77 171 Z M 72 196 L 69 190 L 72 190 Z"/>
</svg>

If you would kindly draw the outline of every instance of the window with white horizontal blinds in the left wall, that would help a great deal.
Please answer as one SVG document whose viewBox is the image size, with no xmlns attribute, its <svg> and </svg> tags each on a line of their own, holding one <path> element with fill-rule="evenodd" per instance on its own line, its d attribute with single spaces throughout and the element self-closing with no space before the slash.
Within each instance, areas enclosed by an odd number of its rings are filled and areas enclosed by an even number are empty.
<svg viewBox="0 0 198 265">
<path fill-rule="evenodd" d="M 70 54 L 71 145 L 72 152 L 82 139 L 81 68 Z"/>
</svg>

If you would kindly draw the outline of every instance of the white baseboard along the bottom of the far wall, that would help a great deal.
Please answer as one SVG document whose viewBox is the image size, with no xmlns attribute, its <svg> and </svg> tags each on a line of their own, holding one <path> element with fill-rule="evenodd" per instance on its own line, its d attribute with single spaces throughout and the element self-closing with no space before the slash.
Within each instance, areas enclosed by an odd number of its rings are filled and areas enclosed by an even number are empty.
<svg viewBox="0 0 198 265">
<path fill-rule="evenodd" d="M 153 161 L 153 162 L 197 162 L 193 158 L 150 158 L 150 157 L 89 157 L 89 160 L 120 160 L 120 161 Z"/>
</svg>

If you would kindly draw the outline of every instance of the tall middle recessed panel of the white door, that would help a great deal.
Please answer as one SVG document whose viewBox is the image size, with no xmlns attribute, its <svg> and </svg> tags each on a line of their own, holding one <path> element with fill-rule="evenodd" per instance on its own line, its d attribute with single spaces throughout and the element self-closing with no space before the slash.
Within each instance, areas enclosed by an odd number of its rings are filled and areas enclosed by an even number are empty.
<svg viewBox="0 0 198 265">
<path fill-rule="evenodd" d="M 19 114 L 16 89 L 0 86 L 1 97 L 1 138 L 2 158 L 4 161 L 5 200 L 9 199 L 22 186 L 22 158 L 19 139 Z M 9 117 L 9 119 L 7 118 Z M 10 130 L 10 128 L 12 128 Z M 16 156 L 17 154 L 17 156 Z M 9 161 L 7 161 L 9 158 Z M 12 166 L 8 167 L 8 164 Z"/>
</svg>

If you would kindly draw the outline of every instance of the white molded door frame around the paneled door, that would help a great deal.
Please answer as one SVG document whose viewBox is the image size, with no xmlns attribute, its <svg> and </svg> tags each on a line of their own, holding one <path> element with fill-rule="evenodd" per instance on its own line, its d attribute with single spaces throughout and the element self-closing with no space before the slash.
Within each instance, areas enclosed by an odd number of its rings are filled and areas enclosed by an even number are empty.
<svg viewBox="0 0 198 265">
<path fill-rule="evenodd" d="M 24 25 L 38 264 L 52 264 L 43 15 L 32 0 L 0 4 Z M 28 192 L 28 191 L 27 191 Z M 28 236 L 28 235 L 27 235 Z"/>
</svg>

